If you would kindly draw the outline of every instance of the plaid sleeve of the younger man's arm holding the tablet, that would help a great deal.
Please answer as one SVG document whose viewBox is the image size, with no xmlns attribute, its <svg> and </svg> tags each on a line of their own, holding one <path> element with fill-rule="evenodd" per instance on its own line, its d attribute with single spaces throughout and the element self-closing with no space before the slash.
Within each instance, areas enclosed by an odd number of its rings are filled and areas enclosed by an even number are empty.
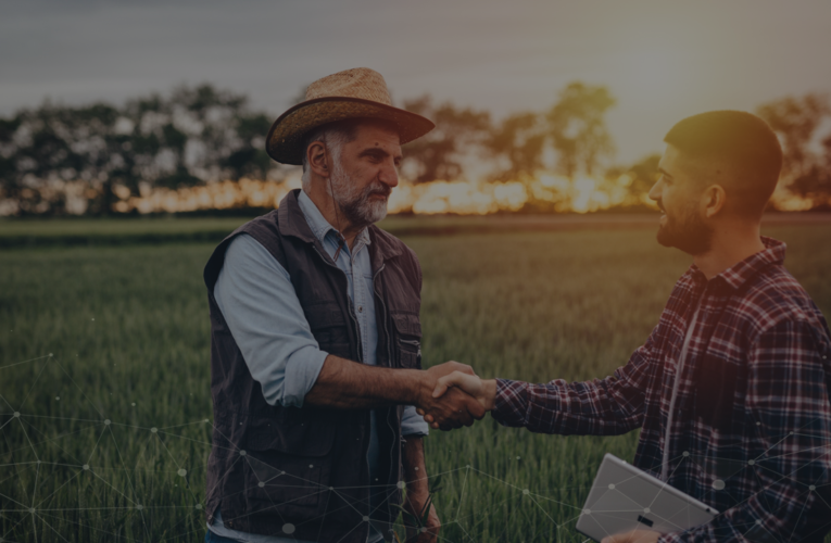
<svg viewBox="0 0 831 543">
<path fill-rule="evenodd" d="M 747 424 L 755 425 L 748 446 L 758 453 L 748 469 L 761 490 L 712 522 L 659 541 L 795 543 L 828 529 L 829 358 L 828 338 L 807 323 L 784 321 L 763 334 L 751 352 L 747 383 Z"/>
</svg>

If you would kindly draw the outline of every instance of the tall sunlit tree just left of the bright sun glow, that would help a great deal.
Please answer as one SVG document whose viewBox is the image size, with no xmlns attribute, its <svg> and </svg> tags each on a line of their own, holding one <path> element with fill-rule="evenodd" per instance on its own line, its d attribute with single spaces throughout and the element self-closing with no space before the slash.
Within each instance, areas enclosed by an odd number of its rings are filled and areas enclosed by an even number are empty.
<svg viewBox="0 0 831 543">
<path fill-rule="evenodd" d="M 557 166 L 569 178 L 582 169 L 593 175 L 604 157 L 615 151 L 604 115 L 615 99 L 604 86 L 569 84 L 561 91 L 547 119 Z"/>
</svg>

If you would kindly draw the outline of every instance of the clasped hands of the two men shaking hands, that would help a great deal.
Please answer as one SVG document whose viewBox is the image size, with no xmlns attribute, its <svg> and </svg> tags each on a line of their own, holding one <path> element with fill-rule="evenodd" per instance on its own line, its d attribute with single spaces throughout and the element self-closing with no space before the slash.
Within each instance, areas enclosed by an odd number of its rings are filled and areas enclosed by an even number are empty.
<svg viewBox="0 0 831 543">
<path fill-rule="evenodd" d="M 481 419 L 495 395 L 495 379 L 482 380 L 470 366 L 451 361 L 421 372 L 416 411 L 432 428 L 452 430 Z"/>
</svg>

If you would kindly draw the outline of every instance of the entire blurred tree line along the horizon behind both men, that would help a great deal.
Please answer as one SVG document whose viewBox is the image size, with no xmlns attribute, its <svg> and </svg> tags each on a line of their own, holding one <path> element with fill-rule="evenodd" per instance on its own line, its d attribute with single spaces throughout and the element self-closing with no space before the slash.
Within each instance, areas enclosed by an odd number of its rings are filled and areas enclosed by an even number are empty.
<svg viewBox="0 0 831 543">
<path fill-rule="evenodd" d="M 567 85 L 543 112 L 501 119 L 484 110 L 424 96 L 403 108 L 436 129 L 405 147 L 402 174 L 415 184 L 478 177 L 533 179 L 542 171 L 574 180 L 627 174 L 629 191 L 649 191 L 657 154 L 615 164 L 605 115 L 616 99 L 605 86 Z M 831 207 L 831 105 L 827 96 L 785 97 L 757 113 L 784 150 L 782 185 L 816 209 Z M 0 118 L 0 215 L 108 215 L 119 200 L 154 188 L 243 177 L 280 182 L 291 168 L 272 161 L 264 137 L 272 116 L 247 97 L 212 85 L 180 87 L 123 106 L 45 102 Z M 529 204 L 527 211 L 546 211 Z"/>
</svg>

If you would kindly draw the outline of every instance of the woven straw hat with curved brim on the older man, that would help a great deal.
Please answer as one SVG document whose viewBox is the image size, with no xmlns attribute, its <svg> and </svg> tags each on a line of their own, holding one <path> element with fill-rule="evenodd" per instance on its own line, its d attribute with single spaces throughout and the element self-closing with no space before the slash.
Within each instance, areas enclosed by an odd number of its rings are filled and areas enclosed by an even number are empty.
<svg viewBox="0 0 831 543">
<path fill-rule="evenodd" d="M 413 141 L 436 125 L 421 115 L 392 106 L 387 81 L 369 68 L 353 68 L 317 79 L 306 99 L 280 115 L 268 130 L 265 150 L 284 164 L 302 164 L 303 139 L 313 128 L 348 118 L 381 118 L 398 127 L 401 143 Z"/>
</svg>

